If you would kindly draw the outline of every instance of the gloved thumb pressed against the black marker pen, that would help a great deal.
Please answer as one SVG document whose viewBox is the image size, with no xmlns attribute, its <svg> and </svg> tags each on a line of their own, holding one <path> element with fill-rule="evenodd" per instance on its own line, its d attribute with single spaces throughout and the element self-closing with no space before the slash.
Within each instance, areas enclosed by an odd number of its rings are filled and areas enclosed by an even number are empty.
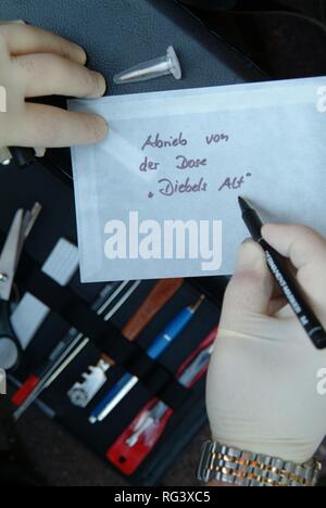
<svg viewBox="0 0 326 508">
<path fill-rule="evenodd" d="M 246 240 L 239 250 L 237 267 L 226 290 L 225 310 L 267 314 L 274 282 L 262 247 Z"/>
</svg>

